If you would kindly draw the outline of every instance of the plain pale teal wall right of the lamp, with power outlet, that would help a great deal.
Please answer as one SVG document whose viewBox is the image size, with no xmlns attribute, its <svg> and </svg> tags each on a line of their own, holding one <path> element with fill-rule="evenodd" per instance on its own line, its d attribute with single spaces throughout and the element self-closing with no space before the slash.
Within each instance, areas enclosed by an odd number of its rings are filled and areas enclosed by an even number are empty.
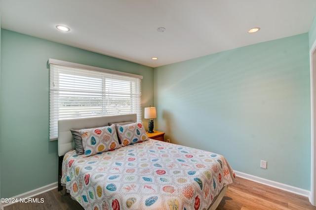
<svg viewBox="0 0 316 210">
<path fill-rule="evenodd" d="M 311 189 L 309 35 L 154 69 L 156 129 L 233 169 Z M 268 161 L 268 169 L 260 168 Z"/>
</svg>

